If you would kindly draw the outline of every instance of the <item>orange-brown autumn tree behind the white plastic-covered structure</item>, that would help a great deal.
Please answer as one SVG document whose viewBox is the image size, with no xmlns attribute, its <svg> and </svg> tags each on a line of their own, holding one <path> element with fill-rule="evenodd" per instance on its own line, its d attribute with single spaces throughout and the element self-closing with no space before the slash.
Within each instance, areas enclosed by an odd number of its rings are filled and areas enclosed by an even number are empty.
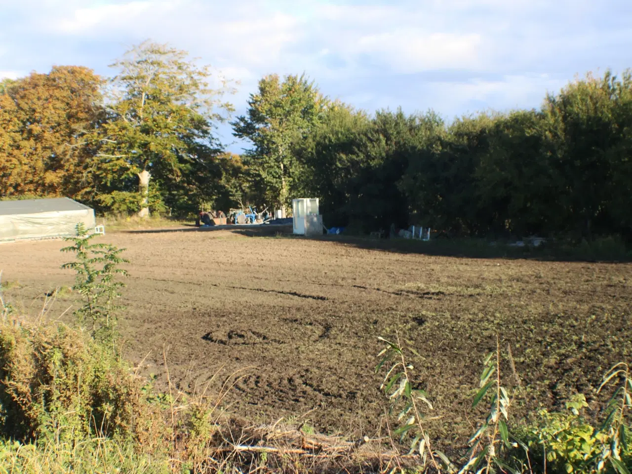
<svg viewBox="0 0 632 474">
<path fill-rule="evenodd" d="M 90 193 L 85 135 L 99 116 L 102 79 L 80 66 L 0 87 L 0 196 Z"/>
</svg>

